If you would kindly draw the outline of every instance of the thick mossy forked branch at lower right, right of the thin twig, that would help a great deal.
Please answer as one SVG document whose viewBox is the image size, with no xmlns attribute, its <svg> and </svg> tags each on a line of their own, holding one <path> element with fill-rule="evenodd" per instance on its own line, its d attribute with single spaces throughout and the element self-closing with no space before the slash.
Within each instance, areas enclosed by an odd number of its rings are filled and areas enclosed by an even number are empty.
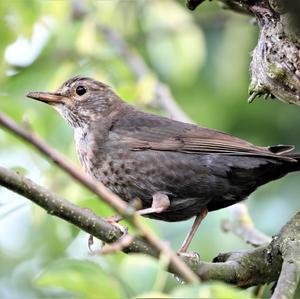
<svg viewBox="0 0 300 299">
<path fill-rule="evenodd" d="M 297 213 L 269 245 L 227 253 L 202 263 L 196 273 L 203 279 L 219 279 L 240 287 L 276 281 L 272 299 L 292 298 L 299 281 L 300 213 Z"/>
</svg>

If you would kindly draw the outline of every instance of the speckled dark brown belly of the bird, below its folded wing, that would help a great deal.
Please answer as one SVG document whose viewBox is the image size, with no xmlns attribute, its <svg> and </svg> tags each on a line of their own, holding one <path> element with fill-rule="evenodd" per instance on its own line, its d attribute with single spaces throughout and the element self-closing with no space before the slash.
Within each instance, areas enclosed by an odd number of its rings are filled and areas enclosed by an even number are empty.
<svg viewBox="0 0 300 299">
<path fill-rule="evenodd" d="M 85 164 L 88 173 L 127 202 L 138 198 L 143 208 L 148 208 L 153 194 L 169 196 L 170 207 L 147 215 L 149 218 L 186 220 L 206 208 L 217 210 L 243 199 L 230 191 L 226 178 L 213 175 L 205 158 L 199 155 L 189 155 L 185 160 L 182 154 L 170 152 L 156 155 L 119 150 L 97 161 L 89 159 Z"/>
</svg>

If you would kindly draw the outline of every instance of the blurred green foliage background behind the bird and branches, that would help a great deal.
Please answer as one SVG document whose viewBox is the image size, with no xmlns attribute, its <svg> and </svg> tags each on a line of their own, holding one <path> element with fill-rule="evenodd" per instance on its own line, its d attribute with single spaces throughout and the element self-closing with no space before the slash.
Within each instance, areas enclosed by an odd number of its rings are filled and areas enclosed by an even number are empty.
<svg viewBox="0 0 300 299">
<path fill-rule="evenodd" d="M 55 90 L 78 74 L 109 83 L 142 109 L 150 109 L 147 103 L 158 78 L 201 125 L 261 145 L 288 143 L 300 148 L 298 107 L 264 100 L 247 104 L 249 53 L 257 39 L 256 27 L 249 18 L 222 11 L 214 2 L 190 12 L 183 1 L 173 0 L 0 1 L 0 18 L 0 110 L 36 131 L 74 163 L 78 162 L 71 129 L 50 107 L 26 99 L 25 94 Z M 136 82 L 126 61 L 98 30 L 103 25 L 121 34 L 152 74 Z M 1 165 L 25 173 L 72 202 L 101 216 L 112 214 L 31 147 L 2 130 L 0 159 Z M 248 205 L 260 229 L 274 234 L 299 210 L 299 179 L 299 174 L 291 175 L 251 196 Z M 191 246 L 205 260 L 218 252 L 247 248 L 221 232 L 224 217 L 230 217 L 229 209 L 211 213 Z M 191 224 L 145 222 L 174 249 Z M 121 253 L 90 257 L 87 239 L 85 233 L 1 188 L 0 296 L 250 296 L 249 291 L 217 282 L 181 285 L 163 271 L 163 258 L 155 261 Z"/>
</svg>

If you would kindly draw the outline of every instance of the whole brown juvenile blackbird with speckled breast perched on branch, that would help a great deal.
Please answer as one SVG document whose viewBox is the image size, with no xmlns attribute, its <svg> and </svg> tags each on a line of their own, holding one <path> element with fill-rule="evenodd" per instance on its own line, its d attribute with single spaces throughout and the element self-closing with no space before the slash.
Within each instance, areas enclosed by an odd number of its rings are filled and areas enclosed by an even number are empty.
<svg viewBox="0 0 300 299">
<path fill-rule="evenodd" d="M 196 216 L 185 252 L 207 211 L 233 205 L 257 187 L 300 170 L 293 146 L 255 146 L 197 125 L 144 113 L 86 77 L 28 97 L 53 106 L 74 128 L 79 160 L 94 179 L 140 214 L 164 221 Z"/>
</svg>

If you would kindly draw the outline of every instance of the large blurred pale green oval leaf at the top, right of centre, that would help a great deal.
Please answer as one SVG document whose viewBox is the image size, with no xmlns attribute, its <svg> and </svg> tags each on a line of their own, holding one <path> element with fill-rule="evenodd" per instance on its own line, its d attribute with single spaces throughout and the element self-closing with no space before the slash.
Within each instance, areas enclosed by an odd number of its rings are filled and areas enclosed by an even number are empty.
<svg viewBox="0 0 300 299">
<path fill-rule="evenodd" d="M 151 62 L 164 79 L 177 86 L 191 84 L 205 61 L 201 28 L 174 1 L 152 1 L 147 9 L 144 27 L 150 33 L 146 47 Z M 172 11 L 172 18 L 165 11 Z"/>
</svg>

